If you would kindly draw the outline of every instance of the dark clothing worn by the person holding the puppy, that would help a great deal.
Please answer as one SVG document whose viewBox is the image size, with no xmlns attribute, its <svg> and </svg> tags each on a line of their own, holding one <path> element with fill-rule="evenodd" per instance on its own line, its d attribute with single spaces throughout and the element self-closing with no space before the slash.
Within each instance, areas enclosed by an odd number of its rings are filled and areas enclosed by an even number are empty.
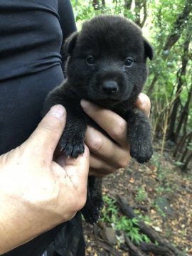
<svg viewBox="0 0 192 256">
<path fill-rule="evenodd" d="M 64 79 L 60 47 L 73 31 L 70 0 L 0 0 L 0 154 L 41 120 L 46 95 Z M 57 255 L 83 255 L 80 216 L 5 255 L 40 256 L 50 242 Z"/>
</svg>

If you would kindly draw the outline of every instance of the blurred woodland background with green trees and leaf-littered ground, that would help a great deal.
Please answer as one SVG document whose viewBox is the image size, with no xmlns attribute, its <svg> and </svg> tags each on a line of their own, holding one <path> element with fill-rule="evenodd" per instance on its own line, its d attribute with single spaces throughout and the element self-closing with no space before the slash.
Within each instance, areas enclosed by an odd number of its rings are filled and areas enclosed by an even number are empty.
<svg viewBox="0 0 192 256">
<path fill-rule="evenodd" d="M 101 221 L 85 224 L 86 255 L 192 255 L 192 1 L 72 4 L 78 29 L 98 14 L 125 16 L 142 28 L 155 53 L 144 86 L 154 156 L 104 178 Z"/>
</svg>

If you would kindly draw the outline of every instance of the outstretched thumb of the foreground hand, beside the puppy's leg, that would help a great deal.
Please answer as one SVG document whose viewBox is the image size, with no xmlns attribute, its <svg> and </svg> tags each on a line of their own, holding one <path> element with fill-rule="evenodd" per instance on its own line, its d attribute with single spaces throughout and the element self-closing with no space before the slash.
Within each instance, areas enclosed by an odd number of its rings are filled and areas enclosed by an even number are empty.
<svg viewBox="0 0 192 256">
<path fill-rule="evenodd" d="M 53 153 L 63 133 L 66 121 L 66 111 L 62 105 L 55 105 L 38 124 L 36 130 L 28 138 L 31 149 L 46 159 L 52 160 Z"/>
</svg>

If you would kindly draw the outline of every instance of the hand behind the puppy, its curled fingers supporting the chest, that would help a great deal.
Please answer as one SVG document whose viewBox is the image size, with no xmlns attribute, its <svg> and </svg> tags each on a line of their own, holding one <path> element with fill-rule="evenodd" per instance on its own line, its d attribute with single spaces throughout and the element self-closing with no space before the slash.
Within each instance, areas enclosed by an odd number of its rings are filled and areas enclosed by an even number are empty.
<svg viewBox="0 0 192 256">
<path fill-rule="evenodd" d="M 92 127 L 85 134 L 85 144 L 90 149 L 90 175 L 103 177 L 129 164 L 131 156 L 127 144 L 127 122 L 118 114 L 102 109 L 90 102 L 81 102 L 82 109 L 114 140 Z M 149 116 L 149 97 L 141 93 L 137 107 Z M 115 143 L 116 142 L 116 143 Z"/>
</svg>

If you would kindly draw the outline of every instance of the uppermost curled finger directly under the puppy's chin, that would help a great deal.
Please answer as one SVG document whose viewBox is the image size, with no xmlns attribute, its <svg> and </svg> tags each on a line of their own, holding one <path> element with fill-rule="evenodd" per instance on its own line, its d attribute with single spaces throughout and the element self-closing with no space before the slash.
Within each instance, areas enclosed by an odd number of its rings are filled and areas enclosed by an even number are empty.
<svg viewBox="0 0 192 256">
<path fill-rule="evenodd" d="M 105 110 L 95 104 L 81 101 L 82 109 L 88 114 L 109 136 L 121 146 L 127 144 L 127 122 L 111 110 Z"/>
</svg>

